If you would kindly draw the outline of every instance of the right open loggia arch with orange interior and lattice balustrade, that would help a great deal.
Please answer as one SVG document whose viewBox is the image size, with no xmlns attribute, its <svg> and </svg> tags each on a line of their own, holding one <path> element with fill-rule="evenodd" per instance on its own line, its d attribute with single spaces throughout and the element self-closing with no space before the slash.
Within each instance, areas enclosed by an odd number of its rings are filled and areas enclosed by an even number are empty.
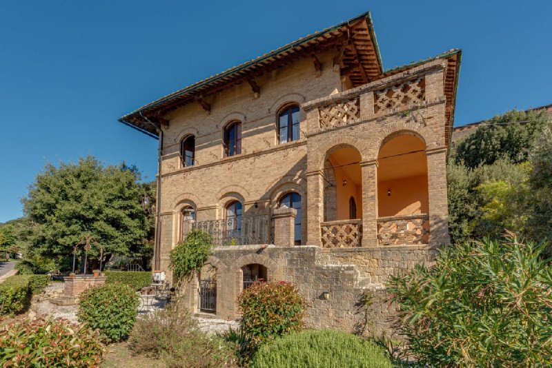
<svg viewBox="0 0 552 368">
<path fill-rule="evenodd" d="M 382 245 L 428 242 L 426 145 L 409 132 L 385 141 L 377 156 L 377 228 Z"/>
</svg>

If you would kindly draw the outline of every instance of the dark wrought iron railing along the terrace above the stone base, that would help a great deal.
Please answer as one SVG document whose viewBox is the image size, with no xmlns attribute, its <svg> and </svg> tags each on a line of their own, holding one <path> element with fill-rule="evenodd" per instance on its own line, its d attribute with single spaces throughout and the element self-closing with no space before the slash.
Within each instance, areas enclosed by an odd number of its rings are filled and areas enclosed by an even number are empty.
<svg viewBox="0 0 552 368">
<path fill-rule="evenodd" d="M 268 215 L 197 221 L 193 224 L 194 229 L 211 234 L 215 245 L 271 244 L 270 227 Z"/>
</svg>

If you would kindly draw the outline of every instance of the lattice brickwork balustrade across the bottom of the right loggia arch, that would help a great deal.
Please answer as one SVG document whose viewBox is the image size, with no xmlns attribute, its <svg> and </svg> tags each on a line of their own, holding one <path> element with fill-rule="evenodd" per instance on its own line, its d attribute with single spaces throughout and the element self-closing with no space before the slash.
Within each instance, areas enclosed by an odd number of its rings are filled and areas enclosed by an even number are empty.
<svg viewBox="0 0 552 368">
<path fill-rule="evenodd" d="M 427 214 L 377 219 L 379 245 L 427 244 L 428 238 L 429 216 Z"/>
</svg>

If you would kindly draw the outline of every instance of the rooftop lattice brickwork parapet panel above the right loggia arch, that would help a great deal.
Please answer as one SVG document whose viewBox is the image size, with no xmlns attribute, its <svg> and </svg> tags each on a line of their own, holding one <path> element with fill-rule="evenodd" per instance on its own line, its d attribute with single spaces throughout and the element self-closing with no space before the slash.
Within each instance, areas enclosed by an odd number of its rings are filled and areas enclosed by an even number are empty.
<svg viewBox="0 0 552 368">
<path fill-rule="evenodd" d="M 395 112 L 401 108 L 422 105 L 426 99 L 424 77 L 393 85 L 374 92 L 374 113 L 376 116 Z"/>
</svg>

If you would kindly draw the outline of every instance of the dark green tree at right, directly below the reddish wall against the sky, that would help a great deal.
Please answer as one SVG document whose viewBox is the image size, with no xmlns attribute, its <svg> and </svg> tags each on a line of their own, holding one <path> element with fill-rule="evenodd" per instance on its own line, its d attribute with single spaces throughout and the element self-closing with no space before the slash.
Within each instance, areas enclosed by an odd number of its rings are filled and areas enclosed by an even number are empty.
<svg viewBox="0 0 552 368">
<path fill-rule="evenodd" d="M 460 141 L 455 162 L 474 169 L 491 165 L 498 159 L 509 159 L 513 163 L 527 161 L 535 137 L 549 121 L 550 114 L 545 110 L 512 110 L 495 116 Z"/>
</svg>

